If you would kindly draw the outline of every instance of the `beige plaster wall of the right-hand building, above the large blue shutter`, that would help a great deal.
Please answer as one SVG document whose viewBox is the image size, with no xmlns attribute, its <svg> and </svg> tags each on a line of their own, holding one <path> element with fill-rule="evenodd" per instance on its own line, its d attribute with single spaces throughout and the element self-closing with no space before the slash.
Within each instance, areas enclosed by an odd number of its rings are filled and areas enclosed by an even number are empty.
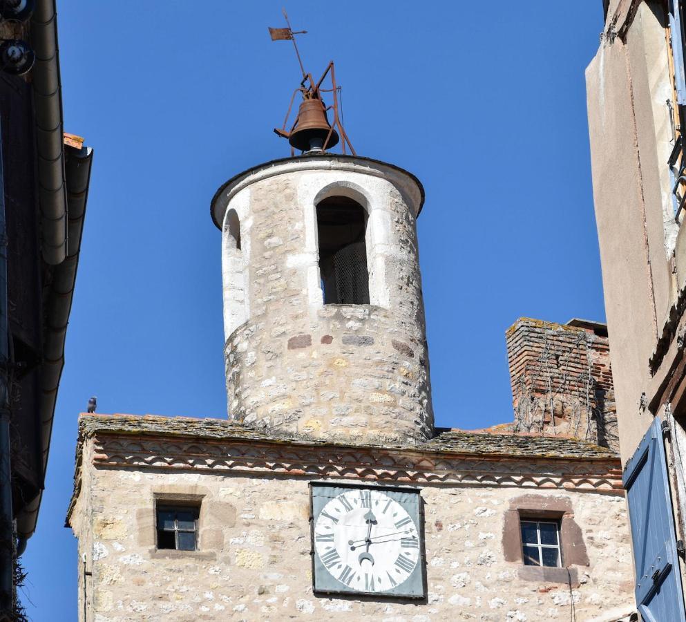
<svg viewBox="0 0 686 622">
<path fill-rule="evenodd" d="M 608 14 L 610 15 L 610 13 Z M 622 41 L 607 31 L 587 68 L 593 198 L 626 462 L 652 421 L 649 359 L 676 288 L 669 220 L 669 71 L 658 3 L 640 3 Z"/>
</svg>

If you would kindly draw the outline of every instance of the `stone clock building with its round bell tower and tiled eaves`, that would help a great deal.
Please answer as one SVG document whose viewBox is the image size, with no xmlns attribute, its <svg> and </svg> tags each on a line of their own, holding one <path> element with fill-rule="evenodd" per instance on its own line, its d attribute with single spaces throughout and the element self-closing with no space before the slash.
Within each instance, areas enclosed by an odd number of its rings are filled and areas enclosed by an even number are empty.
<svg viewBox="0 0 686 622">
<path fill-rule="evenodd" d="M 611 409 L 588 402 L 611 388 L 604 337 L 513 327 L 513 386 L 541 399 L 532 343 L 591 357 L 556 385 L 564 433 L 436 428 L 422 205 L 410 173 L 321 151 L 220 188 L 229 419 L 82 415 L 80 619 L 630 619 Z"/>
</svg>

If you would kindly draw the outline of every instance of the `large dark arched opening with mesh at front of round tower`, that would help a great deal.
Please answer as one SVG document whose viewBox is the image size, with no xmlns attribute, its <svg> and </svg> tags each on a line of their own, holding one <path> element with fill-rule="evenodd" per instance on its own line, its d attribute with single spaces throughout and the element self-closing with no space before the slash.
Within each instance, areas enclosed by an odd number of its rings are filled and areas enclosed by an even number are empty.
<svg viewBox="0 0 686 622">
<path fill-rule="evenodd" d="M 317 205 L 319 272 L 325 305 L 368 305 L 367 212 L 345 196 Z"/>
</svg>

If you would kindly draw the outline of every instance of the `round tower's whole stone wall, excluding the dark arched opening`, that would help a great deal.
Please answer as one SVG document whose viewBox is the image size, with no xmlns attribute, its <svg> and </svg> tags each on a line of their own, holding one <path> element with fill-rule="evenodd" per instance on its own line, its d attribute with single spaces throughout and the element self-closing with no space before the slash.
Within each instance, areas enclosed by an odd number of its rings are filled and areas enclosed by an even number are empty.
<svg viewBox="0 0 686 622">
<path fill-rule="evenodd" d="M 418 198 L 399 173 L 299 162 L 249 179 L 227 204 L 241 223 L 248 310 L 225 345 L 229 417 L 330 440 L 431 437 Z M 368 212 L 370 305 L 323 305 L 315 206 L 337 194 Z"/>
</svg>

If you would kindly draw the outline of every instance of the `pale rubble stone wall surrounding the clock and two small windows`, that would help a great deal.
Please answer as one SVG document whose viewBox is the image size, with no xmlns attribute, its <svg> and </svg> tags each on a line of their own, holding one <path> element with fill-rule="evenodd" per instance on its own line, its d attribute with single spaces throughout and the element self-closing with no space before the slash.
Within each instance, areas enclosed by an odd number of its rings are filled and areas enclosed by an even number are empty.
<svg viewBox="0 0 686 622">
<path fill-rule="evenodd" d="M 618 495 L 424 485 L 428 601 L 360 601 L 312 593 L 305 478 L 86 462 L 84 470 L 90 473 L 72 524 L 79 556 L 86 555 L 85 565 L 79 558 L 79 600 L 85 579 L 88 622 L 540 622 L 569 620 L 572 607 L 578 621 L 609 621 L 633 605 L 628 522 Z M 506 560 L 507 517 L 525 492 L 529 504 L 561 502 L 573 512 L 588 565 L 571 569 L 571 585 L 527 578 L 521 563 Z M 198 552 L 155 549 L 154 499 L 175 496 L 202 497 Z"/>
</svg>

